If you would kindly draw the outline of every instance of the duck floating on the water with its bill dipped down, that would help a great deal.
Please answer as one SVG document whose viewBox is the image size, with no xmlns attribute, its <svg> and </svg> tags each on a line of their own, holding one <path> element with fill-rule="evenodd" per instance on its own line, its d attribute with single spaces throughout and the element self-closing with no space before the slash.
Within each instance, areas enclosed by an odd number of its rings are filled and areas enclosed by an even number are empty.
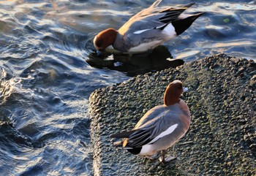
<svg viewBox="0 0 256 176">
<path fill-rule="evenodd" d="M 203 15 L 184 15 L 184 7 L 158 7 L 162 0 L 157 0 L 147 9 L 132 16 L 118 30 L 108 28 L 94 37 L 97 51 L 110 50 L 116 53 L 144 53 L 182 34 L 192 23 Z"/>
</svg>

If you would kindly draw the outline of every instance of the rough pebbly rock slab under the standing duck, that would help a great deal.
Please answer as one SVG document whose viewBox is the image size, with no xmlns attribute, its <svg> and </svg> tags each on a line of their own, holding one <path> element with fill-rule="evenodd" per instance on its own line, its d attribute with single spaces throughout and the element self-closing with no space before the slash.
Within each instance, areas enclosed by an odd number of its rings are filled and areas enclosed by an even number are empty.
<svg viewBox="0 0 256 176">
<path fill-rule="evenodd" d="M 224 54 L 148 73 L 90 96 L 94 175 L 256 175 L 256 66 Z M 109 134 L 132 129 L 181 80 L 192 113 L 187 134 L 167 164 L 113 147 Z"/>
</svg>

